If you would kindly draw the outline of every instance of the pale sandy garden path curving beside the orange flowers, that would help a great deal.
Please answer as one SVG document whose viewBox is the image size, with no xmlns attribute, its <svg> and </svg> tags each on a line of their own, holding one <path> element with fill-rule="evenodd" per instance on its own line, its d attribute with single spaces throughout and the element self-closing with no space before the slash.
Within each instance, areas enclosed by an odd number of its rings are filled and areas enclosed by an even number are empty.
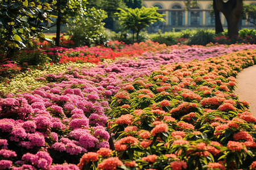
<svg viewBox="0 0 256 170">
<path fill-rule="evenodd" d="M 249 102 L 249 111 L 256 117 L 256 65 L 243 69 L 236 78 L 237 88 L 234 94 L 239 100 Z"/>
</svg>

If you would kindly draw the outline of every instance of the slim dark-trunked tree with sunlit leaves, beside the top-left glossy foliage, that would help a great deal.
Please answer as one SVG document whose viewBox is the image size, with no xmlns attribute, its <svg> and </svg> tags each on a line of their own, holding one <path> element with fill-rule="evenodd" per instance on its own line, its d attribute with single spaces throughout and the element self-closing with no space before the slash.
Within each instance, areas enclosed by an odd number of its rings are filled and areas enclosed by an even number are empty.
<svg viewBox="0 0 256 170">
<path fill-rule="evenodd" d="M 86 0 L 54 0 L 53 14 L 57 16 L 55 45 L 60 46 L 60 25 L 77 15 L 86 15 Z"/>
</svg>

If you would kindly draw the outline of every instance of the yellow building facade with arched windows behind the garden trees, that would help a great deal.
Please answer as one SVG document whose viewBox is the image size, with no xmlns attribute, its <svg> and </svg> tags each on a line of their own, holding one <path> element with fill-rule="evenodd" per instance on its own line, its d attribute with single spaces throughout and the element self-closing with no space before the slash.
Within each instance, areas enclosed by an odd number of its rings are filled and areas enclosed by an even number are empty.
<svg viewBox="0 0 256 170">
<path fill-rule="evenodd" d="M 185 10 L 185 2 L 182 0 L 144 0 L 144 7 L 158 7 L 160 14 L 165 14 L 166 23 L 156 22 L 147 28 L 148 32 L 179 31 L 180 29 L 214 28 L 215 20 L 212 8 L 212 0 L 197 0 L 197 4 L 189 10 Z M 243 3 L 256 4 L 255 0 L 245 0 Z M 221 13 L 221 23 L 227 27 L 225 16 Z M 253 24 L 241 19 L 241 28 L 254 28 Z"/>
</svg>

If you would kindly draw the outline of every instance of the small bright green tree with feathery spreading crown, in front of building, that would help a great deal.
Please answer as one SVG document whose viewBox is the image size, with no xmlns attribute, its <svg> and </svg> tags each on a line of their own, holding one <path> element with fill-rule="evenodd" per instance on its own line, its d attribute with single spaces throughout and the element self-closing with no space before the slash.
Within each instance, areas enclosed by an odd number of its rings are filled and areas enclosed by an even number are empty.
<svg viewBox="0 0 256 170">
<path fill-rule="evenodd" d="M 125 8 L 125 10 L 119 8 L 120 12 L 117 13 L 120 24 L 123 30 L 131 30 L 133 32 L 133 41 L 134 33 L 137 33 L 137 41 L 139 41 L 139 32 L 147 27 L 148 25 L 160 21 L 165 22 L 163 14 L 156 12 L 157 7 L 151 8 Z"/>
</svg>

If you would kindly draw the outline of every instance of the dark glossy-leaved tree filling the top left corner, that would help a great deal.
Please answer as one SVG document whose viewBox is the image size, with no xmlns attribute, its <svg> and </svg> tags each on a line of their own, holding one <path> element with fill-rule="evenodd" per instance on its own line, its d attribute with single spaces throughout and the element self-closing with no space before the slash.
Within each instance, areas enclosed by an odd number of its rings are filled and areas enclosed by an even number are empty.
<svg viewBox="0 0 256 170">
<path fill-rule="evenodd" d="M 27 41 L 32 37 L 45 39 L 42 31 L 47 29 L 44 23 L 50 21 L 49 3 L 39 0 L 0 1 L 0 29 L 4 44 L 0 48 L 5 52 L 5 58 L 11 57 L 14 49 L 26 48 Z"/>
</svg>

